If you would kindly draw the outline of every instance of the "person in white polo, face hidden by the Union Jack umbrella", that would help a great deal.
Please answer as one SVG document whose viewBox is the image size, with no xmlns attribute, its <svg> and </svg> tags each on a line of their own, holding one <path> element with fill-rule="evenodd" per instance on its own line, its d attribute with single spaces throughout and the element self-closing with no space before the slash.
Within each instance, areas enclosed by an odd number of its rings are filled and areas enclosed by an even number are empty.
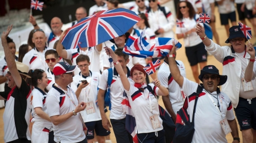
<svg viewBox="0 0 256 143">
<path fill-rule="evenodd" d="M 65 35 L 66 31 L 64 31 L 57 43 L 56 51 L 58 52 L 59 56 L 63 59 L 71 60 L 72 65 L 76 65 L 76 58 L 80 54 L 88 55 L 91 59 L 92 63 L 91 66 L 89 66 L 89 69 L 93 72 L 100 72 L 100 51 L 102 49 L 102 44 L 96 45 L 94 47 L 81 47 L 81 48 L 75 48 L 75 49 L 63 49 L 63 45 L 61 44 L 62 38 Z M 80 69 L 75 70 L 75 75 L 77 75 L 80 72 Z"/>
</svg>

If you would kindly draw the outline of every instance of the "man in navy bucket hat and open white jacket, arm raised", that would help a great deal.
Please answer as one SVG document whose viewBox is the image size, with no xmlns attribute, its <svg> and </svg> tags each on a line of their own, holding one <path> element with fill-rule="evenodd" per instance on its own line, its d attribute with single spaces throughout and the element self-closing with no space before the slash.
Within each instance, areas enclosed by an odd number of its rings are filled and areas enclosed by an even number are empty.
<svg viewBox="0 0 256 143">
<path fill-rule="evenodd" d="M 229 28 L 229 37 L 225 43 L 230 43 L 231 47 L 220 46 L 208 39 L 201 26 L 197 25 L 196 32 L 203 40 L 205 49 L 223 63 L 223 74 L 230 77 L 223 85 L 222 91 L 228 93 L 231 99 L 242 131 L 243 142 L 255 142 L 256 65 L 252 43 L 245 45 L 247 39 L 239 26 Z"/>
</svg>

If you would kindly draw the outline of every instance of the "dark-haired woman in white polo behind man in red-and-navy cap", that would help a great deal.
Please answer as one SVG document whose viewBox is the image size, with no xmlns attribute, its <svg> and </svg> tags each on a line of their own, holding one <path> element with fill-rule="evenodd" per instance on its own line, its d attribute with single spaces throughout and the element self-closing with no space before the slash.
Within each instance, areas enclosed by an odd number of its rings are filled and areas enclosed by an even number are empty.
<svg viewBox="0 0 256 143">
<path fill-rule="evenodd" d="M 46 108 L 46 87 L 48 85 L 47 74 L 44 70 L 35 69 L 28 73 L 31 76 L 29 84 L 34 86 L 32 91 L 32 135 L 31 142 L 45 143 L 49 140 L 49 132 L 52 131 L 52 122 Z"/>
</svg>

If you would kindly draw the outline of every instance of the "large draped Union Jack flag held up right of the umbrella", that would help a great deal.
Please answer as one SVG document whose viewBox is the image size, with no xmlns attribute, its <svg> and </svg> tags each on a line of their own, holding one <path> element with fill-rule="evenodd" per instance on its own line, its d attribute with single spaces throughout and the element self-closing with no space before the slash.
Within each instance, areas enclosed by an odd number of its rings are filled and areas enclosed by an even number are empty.
<svg viewBox="0 0 256 143">
<path fill-rule="evenodd" d="M 166 56 L 173 48 L 173 41 L 175 46 L 181 48 L 181 44 L 174 38 L 155 38 L 156 44 L 147 43 L 143 38 L 145 31 L 142 31 L 138 38 L 132 36 L 126 42 L 123 52 L 139 58 L 157 58 L 159 56 Z"/>
</svg>

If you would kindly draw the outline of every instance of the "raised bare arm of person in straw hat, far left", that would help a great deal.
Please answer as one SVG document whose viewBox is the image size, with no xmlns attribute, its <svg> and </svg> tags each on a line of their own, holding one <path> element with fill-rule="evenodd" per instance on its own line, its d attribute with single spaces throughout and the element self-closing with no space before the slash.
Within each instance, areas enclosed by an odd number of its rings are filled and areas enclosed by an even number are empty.
<svg viewBox="0 0 256 143">
<path fill-rule="evenodd" d="M 1 40 L 2 40 L 2 45 L 4 47 L 4 51 L 5 51 L 5 58 L 6 58 L 8 69 L 15 81 L 15 84 L 17 85 L 18 88 L 20 88 L 20 85 L 22 85 L 22 77 L 19 75 L 16 63 L 15 63 L 15 59 L 13 58 L 13 55 L 8 47 L 7 40 L 6 40 L 11 30 L 12 30 L 12 25 L 8 26 L 6 32 L 3 32 L 1 36 Z"/>
</svg>

